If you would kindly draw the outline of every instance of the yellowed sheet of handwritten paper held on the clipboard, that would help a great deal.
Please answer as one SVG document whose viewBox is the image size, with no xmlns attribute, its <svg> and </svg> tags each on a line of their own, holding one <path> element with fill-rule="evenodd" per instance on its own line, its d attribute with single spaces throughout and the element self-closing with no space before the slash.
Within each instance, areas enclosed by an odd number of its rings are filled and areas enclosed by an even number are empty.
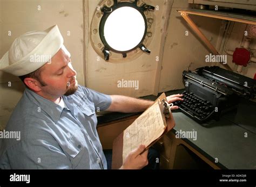
<svg viewBox="0 0 256 187">
<path fill-rule="evenodd" d="M 155 102 L 126 128 L 123 135 L 123 161 L 139 145 L 144 144 L 147 147 L 164 133 L 166 124 L 163 118 L 160 106 Z"/>
</svg>

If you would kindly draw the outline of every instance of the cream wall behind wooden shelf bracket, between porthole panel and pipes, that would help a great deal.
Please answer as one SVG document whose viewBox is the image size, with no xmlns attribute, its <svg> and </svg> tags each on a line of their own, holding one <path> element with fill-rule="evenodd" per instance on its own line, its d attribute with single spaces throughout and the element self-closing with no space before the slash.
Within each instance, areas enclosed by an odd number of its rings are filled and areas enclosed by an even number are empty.
<svg viewBox="0 0 256 187">
<path fill-rule="evenodd" d="M 205 64 L 208 50 L 177 12 L 184 8 L 187 8 L 187 1 L 174 1 L 165 44 L 163 69 L 160 74 L 159 92 L 184 88 L 182 72 L 188 67 L 193 70 L 208 66 Z M 221 21 L 200 16 L 191 16 L 191 19 L 215 46 Z M 188 35 L 185 35 L 186 31 Z"/>
</svg>

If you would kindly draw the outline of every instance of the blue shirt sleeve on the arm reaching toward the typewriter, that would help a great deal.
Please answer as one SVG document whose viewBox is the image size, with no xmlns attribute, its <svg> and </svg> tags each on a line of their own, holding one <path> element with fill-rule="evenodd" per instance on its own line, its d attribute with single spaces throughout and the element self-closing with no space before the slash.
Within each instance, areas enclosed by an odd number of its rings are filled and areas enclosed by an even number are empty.
<svg viewBox="0 0 256 187">
<path fill-rule="evenodd" d="M 103 111 L 108 109 L 111 105 L 112 99 L 110 95 L 106 95 L 86 87 L 82 87 L 82 89 L 87 95 L 87 98 L 95 104 L 96 109 L 99 107 L 99 110 Z"/>
</svg>

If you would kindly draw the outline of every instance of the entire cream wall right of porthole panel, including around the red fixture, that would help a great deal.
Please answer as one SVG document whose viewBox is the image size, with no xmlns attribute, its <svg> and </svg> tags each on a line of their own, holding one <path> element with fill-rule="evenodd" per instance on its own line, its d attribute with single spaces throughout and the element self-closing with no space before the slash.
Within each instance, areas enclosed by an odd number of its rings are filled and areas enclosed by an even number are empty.
<svg viewBox="0 0 256 187">
<path fill-rule="evenodd" d="M 220 66 L 218 63 L 205 62 L 205 55 L 211 52 L 208 51 L 186 21 L 176 12 L 176 10 L 186 7 L 186 0 L 174 1 L 172 6 L 162 63 L 163 69 L 160 74 L 159 92 L 184 88 L 182 72 L 183 70 L 187 70 L 188 67 L 190 70 L 194 70 L 203 66 Z M 221 28 L 221 20 L 193 15 L 190 17 L 199 27 L 200 31 L 205 34 L 206 38 L 216 47 Z M 228 49 L 234 51 L 236 47 L 242 47 L 245 28 L 246 24 L 234 24 L 230 37 L 226 35 L 226 38 L 229 38 L 226 42 Z M 253 54 L 256 56 L 256 26 L 247 26 L 247 30 L 252 38 L 250 48 L 253 49 Z M 185 35 L 185 31 L 188 31 L 188 36 Z M 223 38 L 220 37 L 221 39 Z M 220 54 L 226 53 L 223 51 Z M 234 72 L 237 70 L 237 65 L 232 62 L 232 56 L 227 56 L 227 63 Z M 242 68 L 240 74 L 253 78 L 255 73 L 256 63 L 249 63 L 247 67 Z"/>
</svg>

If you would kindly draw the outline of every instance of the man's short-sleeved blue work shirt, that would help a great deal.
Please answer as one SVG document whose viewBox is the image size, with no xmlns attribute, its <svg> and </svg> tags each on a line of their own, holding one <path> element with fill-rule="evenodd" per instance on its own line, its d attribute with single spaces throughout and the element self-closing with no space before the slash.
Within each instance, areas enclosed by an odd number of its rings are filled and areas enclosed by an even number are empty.
<svg viewBox="0 0 256 187">
<path fill-rule="evenodd" d="M 5 130 L 20 131 L 21 140 L 3 140 L 0 168 L 107 169 L 95 110 L 111 97 L 79 85 L 63 100 L 67 108 L 25 89 Z"/>
</svg>

